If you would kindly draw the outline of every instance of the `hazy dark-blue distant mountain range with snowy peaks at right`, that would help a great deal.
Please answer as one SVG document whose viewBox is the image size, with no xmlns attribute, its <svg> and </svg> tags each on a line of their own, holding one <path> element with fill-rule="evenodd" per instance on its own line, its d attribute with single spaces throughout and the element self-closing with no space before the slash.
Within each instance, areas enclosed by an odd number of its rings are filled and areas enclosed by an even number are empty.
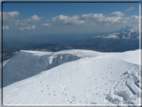
<svg viewBox="0 0 142 107">
<path fill-rule="evenodd" d="M 62 37 L 62 36 L 61 36 Z M 40 42 L 17 41 L 4 42 L 3 59 L 9 59 L 19 50 L 38 50 L 56 52 L 67 49 L 86 49 L 100 52 L 124 52 L 139 49 L 139 32 L 130 32 L 129 30 L 120 30 L 109 34 L 100 34 L 98 36 L 89 36 L 88 38 L 68 40 L 60 38 L 56 42 L 48 42 L 44 38 Z M 86 35 L 87 37 L 87 35 Z M 59 38 L 59 37 L 58 37 Z M 43 39 L 43 38 L 42 38 Z M 45 42 L 47 39 L 47 42 Z M 51 38 L 50 38 L 51 39 Z M 54 40 L 53 40 L 54 41 Z"/>
</svg>

